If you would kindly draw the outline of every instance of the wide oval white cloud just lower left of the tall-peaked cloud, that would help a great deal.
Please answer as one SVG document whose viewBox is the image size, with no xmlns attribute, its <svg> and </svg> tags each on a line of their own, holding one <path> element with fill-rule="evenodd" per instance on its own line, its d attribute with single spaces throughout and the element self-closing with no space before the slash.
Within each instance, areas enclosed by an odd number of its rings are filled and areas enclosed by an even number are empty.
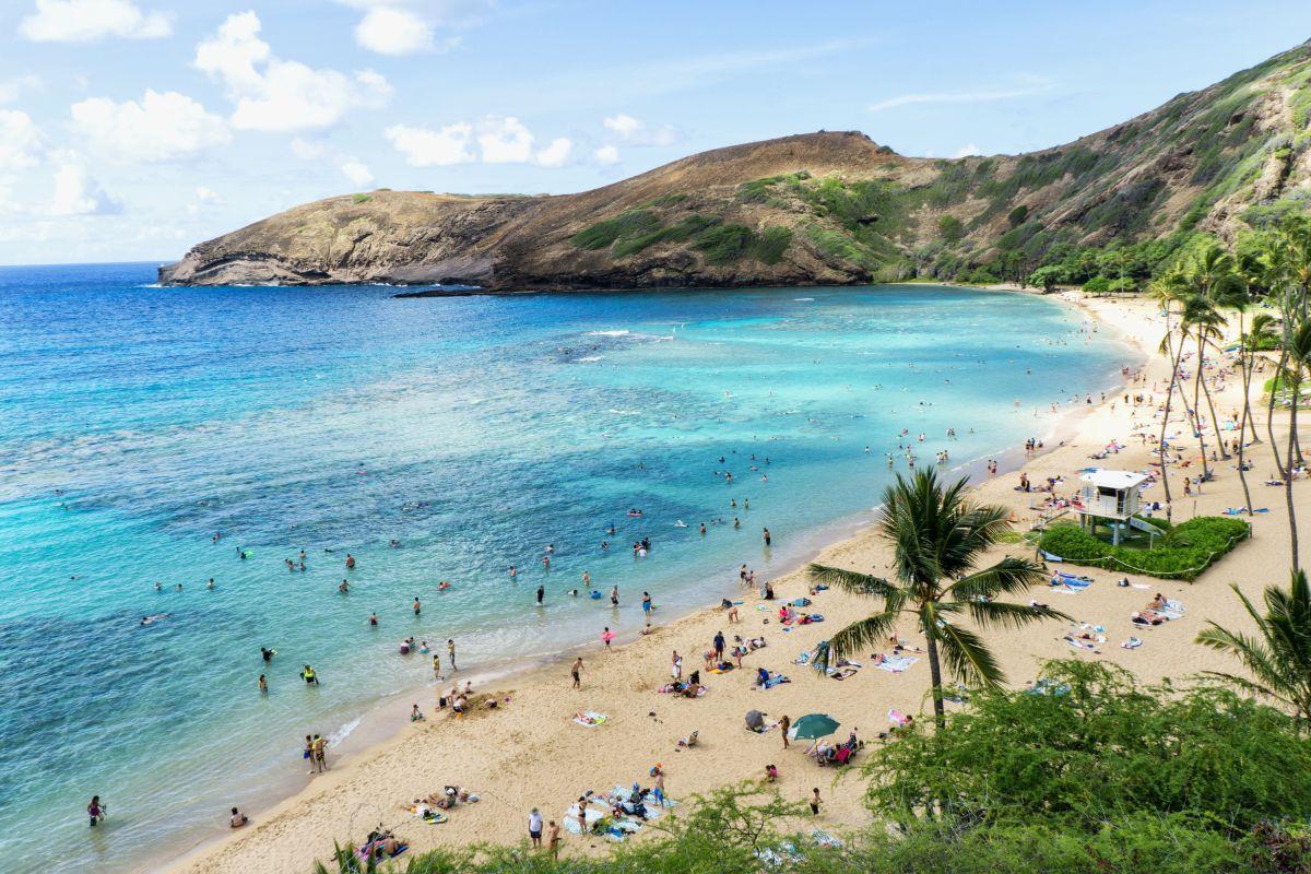
<svg viewBox="0 0 1311 874">
<path fill-rule="evenodd" d="M 147 89 L 142 102 L 92 97 L 71 107 L 72 127 L 106 157 L 128 162 L 174 161 L 229 142 L 228 126 L 177 92 Z"/>
</svg>

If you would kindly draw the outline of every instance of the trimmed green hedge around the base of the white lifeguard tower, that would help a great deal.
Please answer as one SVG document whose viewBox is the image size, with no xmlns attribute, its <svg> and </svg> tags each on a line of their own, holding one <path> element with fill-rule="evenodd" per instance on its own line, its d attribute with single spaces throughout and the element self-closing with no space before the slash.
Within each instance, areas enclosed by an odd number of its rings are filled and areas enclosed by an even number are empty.
<svg viewBox="0 0 1311 874">
<path fill-rule="evenodd" d="M 1112 546 L 1076 525 L 1047 528 L 1038 548 L 1075 565 L 1192 580 L 1247 536 L 1242 519 L 1197 516 L 1171 528 L 1150 549 Z"/>
</svg>

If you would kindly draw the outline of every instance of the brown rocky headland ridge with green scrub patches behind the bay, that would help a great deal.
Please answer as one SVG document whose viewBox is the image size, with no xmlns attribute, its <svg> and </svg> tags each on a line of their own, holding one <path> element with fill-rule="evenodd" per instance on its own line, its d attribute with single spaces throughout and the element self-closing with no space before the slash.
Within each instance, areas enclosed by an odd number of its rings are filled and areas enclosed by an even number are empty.
<svg viewBox="0 0 1311 874">
<path fill-rule="evenodd" d="M 915 159 L 821 131 L 703 152 L 581 194 L 379 190 L 202 242 L 161 267 L 160 282 L 842 284 L 1037 263 L 1058 245 L 1228 236 L 1308 203 L 1311 42 L 1042 152 Z"/>
</svg>

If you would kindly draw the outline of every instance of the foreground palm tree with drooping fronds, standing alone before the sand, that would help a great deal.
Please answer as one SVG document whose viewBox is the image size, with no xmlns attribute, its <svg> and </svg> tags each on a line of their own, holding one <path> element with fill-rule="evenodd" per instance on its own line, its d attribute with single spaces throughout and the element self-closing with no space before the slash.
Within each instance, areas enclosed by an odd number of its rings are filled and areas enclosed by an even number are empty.
<svg viewBox="0 0 1311 874">
<path fill-rule="evenodd" d="M 914 616 L 928 641 L 928 671 L 939 726 L 945 721 L 940 658 L 957 680 L 970 685 L 995 687 L 1006 681 L 983 638 L 957 625 L 957 617 L 968 615 L 981 628 L 1019 628 L 1044 618 L 1070 618 L 1047 607 L 994 600 L 998 595 L 1021 594 L 1044 582 L 1046 574 L 1041 563 L 1011 556 L 982 570 L 975 567 L 983 550 L 1009 531 L 1009 510 L 968 501 L 966 482 L 961 478 L 944 485 L 937 473 L 926 469 L 910 480 L 897 474 L 897 482 L 888 486 L 878 511 L 878 528 L 893 544 L 894 579 L 810 565 L 817 582 L 882 600 L 882 611 L 832 636 L 818 667 L 868 651 L 895 630 L 902 616 Z"/>
</svg>

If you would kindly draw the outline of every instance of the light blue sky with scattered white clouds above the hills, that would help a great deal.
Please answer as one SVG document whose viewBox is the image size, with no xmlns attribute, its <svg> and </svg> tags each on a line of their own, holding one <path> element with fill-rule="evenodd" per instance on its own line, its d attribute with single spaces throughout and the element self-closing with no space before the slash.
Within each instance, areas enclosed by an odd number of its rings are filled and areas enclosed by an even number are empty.
<svg viewBox="0 0 1311 874">
<path fill-rule="evenodd" d="M 334 194 L 579 191 L 815 130 L 1033 151 L 1307 38 L 1306 0 L 0 0 L 0 265 L 168 262 Z"/>
</svg>

